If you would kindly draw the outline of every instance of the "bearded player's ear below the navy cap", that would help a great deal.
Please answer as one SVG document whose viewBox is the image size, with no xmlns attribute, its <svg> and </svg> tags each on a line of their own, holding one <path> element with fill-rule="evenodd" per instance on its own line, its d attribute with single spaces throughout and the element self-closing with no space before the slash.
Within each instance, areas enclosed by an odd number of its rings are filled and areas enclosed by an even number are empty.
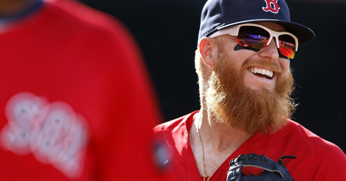
<svg viewBox="0 0 346 181">
<path fill-rule="evenodd" d="M 218 54 L 216 42 L 214 39 L 202 37 L 199 42 L 199 52 L 204 64 L 209 67 L 214 66 Z"/>
</svg>

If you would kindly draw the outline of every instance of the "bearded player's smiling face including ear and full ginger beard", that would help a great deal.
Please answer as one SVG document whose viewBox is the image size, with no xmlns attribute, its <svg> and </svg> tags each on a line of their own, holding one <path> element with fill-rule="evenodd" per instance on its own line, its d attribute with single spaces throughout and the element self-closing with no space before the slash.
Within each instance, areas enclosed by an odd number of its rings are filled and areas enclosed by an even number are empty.
<svg viewBox="0 0 346 181">
<path fill-rule="evenodd" d="M 285 31 L 275 23 L 261 24 Z M 199 76 L 207 80 L 201 84 L 206 107 L 218 122 L 245 132 L 274 132 L 287 123 L 294 108 L 289 59 L 279 57 L 274 41 L 260 51 L 235 50 L 237 44 L 230 35 L 200 44 L 203 62 L 209 66 L 202 66 Z"/>
</svg>

